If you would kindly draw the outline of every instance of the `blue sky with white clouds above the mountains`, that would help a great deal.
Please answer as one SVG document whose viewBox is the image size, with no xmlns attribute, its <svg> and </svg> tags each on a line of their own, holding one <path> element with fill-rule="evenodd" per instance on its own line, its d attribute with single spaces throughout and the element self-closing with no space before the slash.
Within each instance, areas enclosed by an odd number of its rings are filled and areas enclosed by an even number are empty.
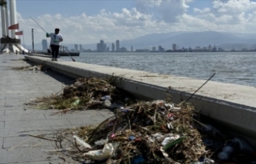
<svg viewBox="0 0 256 164">
<path fill-rule="evenodd" d="M 26 44 L 32 28 L 34 43 L 58 27 L 64 43 L 78 44 L 174 31 L 256 30 L 256 0 L 16 0 L 16 8 Z"/>
</svg>

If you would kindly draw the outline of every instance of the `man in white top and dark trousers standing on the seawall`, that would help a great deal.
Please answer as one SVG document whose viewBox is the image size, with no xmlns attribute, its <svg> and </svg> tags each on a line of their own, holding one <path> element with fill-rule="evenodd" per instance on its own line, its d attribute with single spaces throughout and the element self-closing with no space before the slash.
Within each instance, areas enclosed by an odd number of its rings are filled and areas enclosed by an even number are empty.
<svg viewBox="0 0 256 164">
<path fill-rule="evenodd" d="M 46 34 L 46 37 L 51 37 L 51 60 L 57 61 L 57 55 L 60 49 L 60 42 L 63 41 L 62 35 L 59 34 L 60 29 L 55 28 L 55 32 L 51 34 Z"/>
</svg>

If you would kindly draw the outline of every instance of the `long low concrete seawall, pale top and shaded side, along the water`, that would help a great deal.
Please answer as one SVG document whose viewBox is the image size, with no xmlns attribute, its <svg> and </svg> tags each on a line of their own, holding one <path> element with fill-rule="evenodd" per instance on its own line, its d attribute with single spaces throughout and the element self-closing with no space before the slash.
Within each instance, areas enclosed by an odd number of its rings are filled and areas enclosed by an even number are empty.
<svg viewBox="0 0 256 164">
<path fill-rule="evenodd" d="M 140 98 L 165 99 L 179 103 L 192 95 L 205 80 L 161 75 L 152 72 L 119 69 L 87 63 L 57 61 L 40 56 L 25 56 L 32 63 L 50 67 L 65 76 L 79 77 L 117 76 L 118 87 Z M 211 76 L 211 75 L 209 75 Z M 218 75 L 216 75 L 218 76 Z M 203 115 L 242 133 L 256 143 L 256 88 L 222 82 L 208 82 L 189 101 Z M 255 139 L 255 140 L 254 140 Z M 254 144 L 256 145 L 256 144 Z"/>
</svg>

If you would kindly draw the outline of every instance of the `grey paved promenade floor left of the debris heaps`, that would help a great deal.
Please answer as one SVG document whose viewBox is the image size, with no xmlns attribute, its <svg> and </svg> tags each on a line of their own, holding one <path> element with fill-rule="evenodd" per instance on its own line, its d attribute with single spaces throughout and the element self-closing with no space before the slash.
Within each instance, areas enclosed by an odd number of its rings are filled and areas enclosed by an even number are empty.
<svg viewBox="0 0 256 164">
<path fill-rule="evenodd" d="M 2 163 L 77 163 L 44 153 L 55 150 L 54 143 L 28 137 L 54 133 L 68 127 L 97 124 L 112 115 L 110 111 L 77 111 L 51 115 L 54 110 L 31 109 L 24 103 L 55 94 L 74 82 L 52 71 L 24 71 L 13 68 L 29 66 L 22 55 L 0 54 L 0 164 Z"/>
</svg>

